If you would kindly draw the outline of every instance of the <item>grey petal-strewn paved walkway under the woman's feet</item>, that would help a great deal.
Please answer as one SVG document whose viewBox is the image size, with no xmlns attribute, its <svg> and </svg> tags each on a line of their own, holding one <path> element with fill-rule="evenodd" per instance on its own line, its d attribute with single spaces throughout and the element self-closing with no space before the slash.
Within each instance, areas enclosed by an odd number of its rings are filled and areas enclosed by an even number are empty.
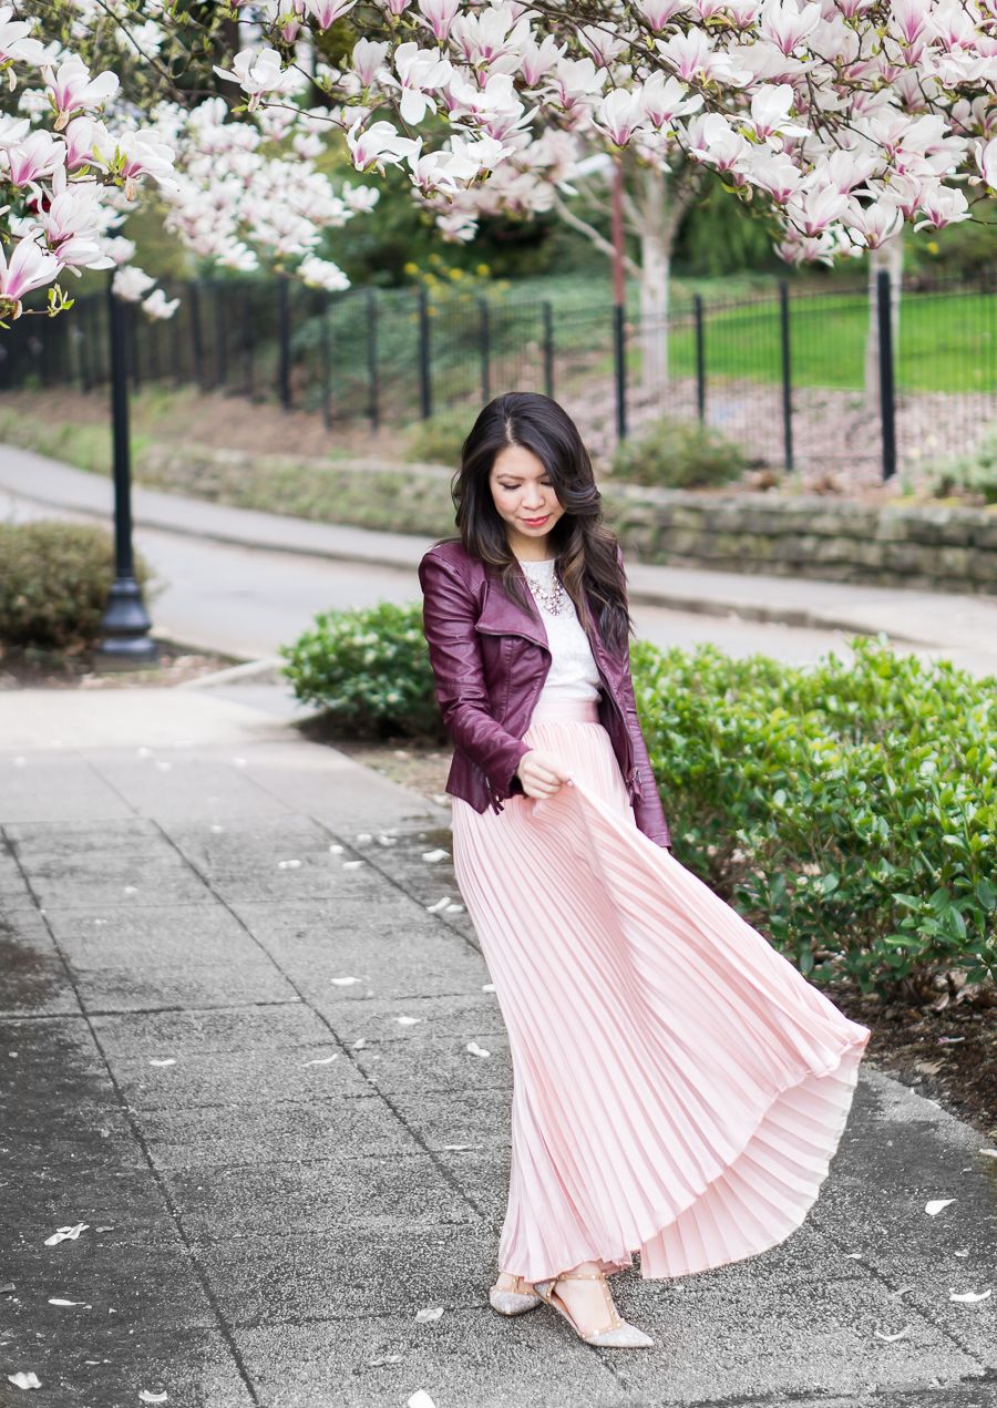
<svg viewBox="0 0 997 1408">
<path fill-rule="evenodd" d="M 448 819 L 211 691 L 0 694 L 0 1404 L 997 1405 L 994 1160 L 867 1063 L 782 1246 L 621 1277 L 652 1350 L 490 1309 L 511 1070 Z"/>
</svg>

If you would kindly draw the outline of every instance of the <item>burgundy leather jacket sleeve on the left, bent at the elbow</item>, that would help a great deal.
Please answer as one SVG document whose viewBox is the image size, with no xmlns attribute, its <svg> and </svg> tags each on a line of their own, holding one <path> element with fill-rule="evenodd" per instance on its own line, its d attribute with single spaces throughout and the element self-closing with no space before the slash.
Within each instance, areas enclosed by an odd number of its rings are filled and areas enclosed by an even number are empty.
<svg viewBox="0 0 997 1408">
<path fill-rule="evenodd" d="M 514 787 L 514 773 L 522 755 L 529 752 L 529 743 L 515 738 L 491 715 L 475 629 L 477 610 L 473 596 L 462 577 L 432 551 L 420 562 L 418 580 L 425 642 L 444 725 L 453 742 L 482 769 L 490 787 L 500 797 L 508 797 L 521 790 L 521 784 Z"/>
</svg>

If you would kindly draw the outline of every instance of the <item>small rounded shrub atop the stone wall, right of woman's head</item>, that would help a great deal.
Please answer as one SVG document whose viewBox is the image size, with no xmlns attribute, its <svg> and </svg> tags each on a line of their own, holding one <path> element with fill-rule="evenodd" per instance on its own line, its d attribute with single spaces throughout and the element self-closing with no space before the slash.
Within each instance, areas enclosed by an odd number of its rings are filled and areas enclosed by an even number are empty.
<svg viewBox="0 0 997 1408">
<path fill-rule="evenodd" d="M 662 415 L 613 456 L 614 479 L 662 489 L 708 489 L 741 479 L 751 462 L 718 431 Z"/>
</svg>

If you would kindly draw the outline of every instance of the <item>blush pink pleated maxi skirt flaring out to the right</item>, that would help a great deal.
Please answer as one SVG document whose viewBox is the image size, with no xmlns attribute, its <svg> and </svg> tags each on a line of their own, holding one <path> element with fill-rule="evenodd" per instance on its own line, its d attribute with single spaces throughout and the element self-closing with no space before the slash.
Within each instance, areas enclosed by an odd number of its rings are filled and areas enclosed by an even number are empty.
<svg viewBox="0 0 997 1408">
<path fill-rule="evenodd" d="M 572 783 L 501 812 L 452 798 L 513 1063 L 499 1269 L 765 1252 L 817 1200 L 872 1033 L 638 829 L 594 703 L 542 700 L 524 741 Z"/>
</svg>

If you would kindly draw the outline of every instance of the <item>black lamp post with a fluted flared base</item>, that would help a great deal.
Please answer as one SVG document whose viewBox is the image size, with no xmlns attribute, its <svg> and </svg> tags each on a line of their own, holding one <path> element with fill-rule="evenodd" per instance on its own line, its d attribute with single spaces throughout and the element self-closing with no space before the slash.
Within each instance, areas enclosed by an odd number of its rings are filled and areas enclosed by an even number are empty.
<svg viewBox="0 0 997 1408">
<path fill-rule="evenodd" d="M 131 445 L 128 441 L 128 318 L 124 303 L 107 286 L 111 342 L 111 417 L 114 434 L 114 582 L 100 620 L 103 639 L 94 663 L 104 670 L 141 669 L 159 660 L 149 636 L 152 621 L 135 580 L 131 543 Z"/>
</svg>

